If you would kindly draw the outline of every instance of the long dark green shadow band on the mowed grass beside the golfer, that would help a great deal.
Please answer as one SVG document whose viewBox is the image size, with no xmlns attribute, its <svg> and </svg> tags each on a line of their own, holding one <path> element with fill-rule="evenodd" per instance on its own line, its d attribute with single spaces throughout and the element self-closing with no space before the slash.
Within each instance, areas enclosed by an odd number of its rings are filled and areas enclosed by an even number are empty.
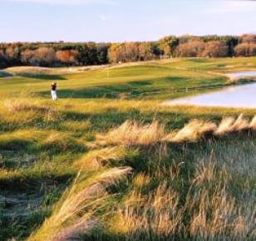
<svg viewBox="0 0 256 241">
<path fill-rule="evenodd" d="M 174 94 L 178 92 L 201 91 L 223 86 L 222 79 L 191 81 L 190 78 L 179 76 L 164 76 L 145 81 L 130 81 L 112 85 L 101 85 L 86 88 L 62 89 L 57 91 L 60 98 L 106 98 L 132 99 L 140 97 L 154 97 L 160 94 Z M 48 97 L 48 91 L 37 92 L 39 96 Z"/>
</svg>

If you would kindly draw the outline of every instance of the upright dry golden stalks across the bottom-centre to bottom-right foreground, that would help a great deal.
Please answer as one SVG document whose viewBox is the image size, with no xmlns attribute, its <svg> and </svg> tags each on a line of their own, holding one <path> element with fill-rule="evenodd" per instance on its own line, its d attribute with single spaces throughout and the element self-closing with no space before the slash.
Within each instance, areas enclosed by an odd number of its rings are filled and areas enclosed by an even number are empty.
<svg viewBox="0 0 256 241">
<path fill-rule="evenodd" d="M 178 166 L 179 168 L 179 166 Z M 185 197 L 167 180 L 182 180 L 175 173 L 146 193 L 135 186 L 115 210 L 107 226 L 127 240 L 255 240 L 254 200 L 240 203 L 228 192 L 229 176 L 215 165 L 196 167 Z M 242 197 L 242 196 L 241 196 Z"/>
</svg>

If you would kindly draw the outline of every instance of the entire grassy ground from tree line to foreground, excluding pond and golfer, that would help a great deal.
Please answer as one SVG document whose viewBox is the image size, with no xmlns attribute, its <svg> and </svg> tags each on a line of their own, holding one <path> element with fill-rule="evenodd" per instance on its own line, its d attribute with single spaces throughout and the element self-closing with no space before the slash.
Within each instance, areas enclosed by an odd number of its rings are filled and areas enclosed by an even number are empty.
<svg viewBox="0 0 256 241">
<path fill-rule="evenodd" d="M 255 67 L 14 68 L 0 78 L 0 240 L 255 240 L 256 111 L 160 105 Z"/>
</svg>

